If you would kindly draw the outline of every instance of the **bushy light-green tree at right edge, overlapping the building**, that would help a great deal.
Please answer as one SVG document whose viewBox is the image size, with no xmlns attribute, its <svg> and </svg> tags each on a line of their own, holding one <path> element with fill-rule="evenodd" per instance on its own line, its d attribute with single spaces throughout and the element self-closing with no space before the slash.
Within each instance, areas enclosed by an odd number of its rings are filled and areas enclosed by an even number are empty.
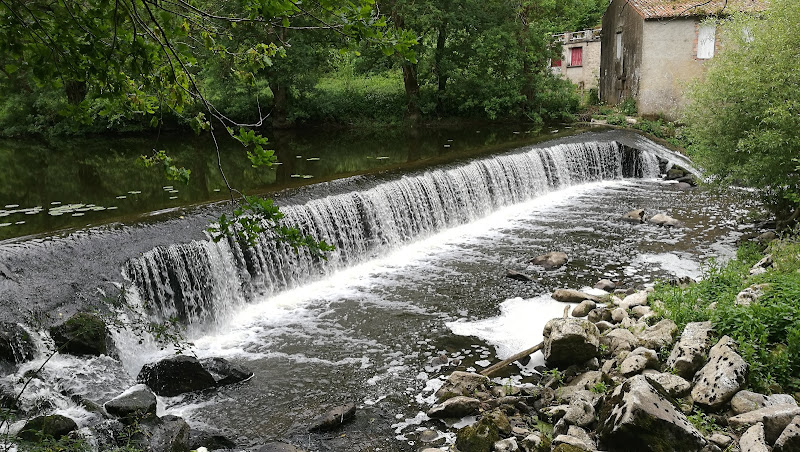
<svg viewBox="0 0 800 452">
<path fill-rule="evenodd" d="M 800 216 L 800 9 L 721 22 L 723 51 L 690 90 L 684 120 L 695 160 L 723 183 L 763 189 L 783 225 Z"/>
</svg>

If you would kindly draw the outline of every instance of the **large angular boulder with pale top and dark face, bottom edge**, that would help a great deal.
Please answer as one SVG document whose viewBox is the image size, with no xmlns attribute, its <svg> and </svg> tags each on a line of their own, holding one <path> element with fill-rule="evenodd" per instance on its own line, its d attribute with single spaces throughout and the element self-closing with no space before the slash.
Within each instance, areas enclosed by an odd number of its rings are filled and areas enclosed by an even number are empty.
<svg viewBox="0 0 800 452">
<path fill-rule="evenodd" d="M 699 451 L 706 441 L 643 375 L 617 386 L 603 405 L 598 433 L 610 450 Z"/>
</svg>

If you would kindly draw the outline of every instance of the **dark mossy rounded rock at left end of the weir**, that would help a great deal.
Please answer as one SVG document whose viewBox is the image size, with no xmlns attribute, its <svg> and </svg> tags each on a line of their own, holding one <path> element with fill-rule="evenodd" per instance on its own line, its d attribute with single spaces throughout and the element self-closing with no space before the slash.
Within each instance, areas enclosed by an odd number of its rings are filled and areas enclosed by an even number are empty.
<svg viewBox="0 0 800 452">
<path fill-rule="evenodd" d="M 108 355 L 109 350 L 114 349 L 106 322 L 86 312 L 75 314 L 66 322 L 50 328 L 50 336 L 62 353 L 70 355 Z"/>
</svg>

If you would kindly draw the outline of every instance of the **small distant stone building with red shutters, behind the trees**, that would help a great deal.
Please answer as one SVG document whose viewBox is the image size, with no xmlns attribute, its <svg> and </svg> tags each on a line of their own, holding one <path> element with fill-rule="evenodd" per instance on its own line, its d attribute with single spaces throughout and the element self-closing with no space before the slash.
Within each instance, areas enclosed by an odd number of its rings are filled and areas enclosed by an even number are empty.
<svg viewBox="0 0 800 452">
<path fill-rule="evenodd" d="M 581 90 L 597 88 L 600 79 L 600 29 L 553 35 L 561 43 L 562 58 L 552 60 L 554 74 L 560 75 Z"/>
</svg>

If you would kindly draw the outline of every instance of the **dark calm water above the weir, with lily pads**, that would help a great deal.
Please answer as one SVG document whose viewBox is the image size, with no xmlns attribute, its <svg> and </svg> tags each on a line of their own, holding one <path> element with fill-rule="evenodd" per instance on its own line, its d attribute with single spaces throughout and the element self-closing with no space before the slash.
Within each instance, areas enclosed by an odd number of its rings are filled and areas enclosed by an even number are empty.
<svg viewBox="0 0 800 452">
<path fill-rule="evenodd" d="M 483 125 L 466 128 L 385 129 L 369 132 L 296 130 L 270 136 L 280 164 L 252 168 L 245 149 L 220 139 L 231 186 L 264 194 L 375 171 L 413 168 L 497 152 L 574 132 L 558 127 Z M 188 184 L 168 181 L 139 156 L 165 150 L 191 170 Z M 0 140 L 0 241 L 220 201 L 229 192 L 208 137 Z"/>
</svg>

